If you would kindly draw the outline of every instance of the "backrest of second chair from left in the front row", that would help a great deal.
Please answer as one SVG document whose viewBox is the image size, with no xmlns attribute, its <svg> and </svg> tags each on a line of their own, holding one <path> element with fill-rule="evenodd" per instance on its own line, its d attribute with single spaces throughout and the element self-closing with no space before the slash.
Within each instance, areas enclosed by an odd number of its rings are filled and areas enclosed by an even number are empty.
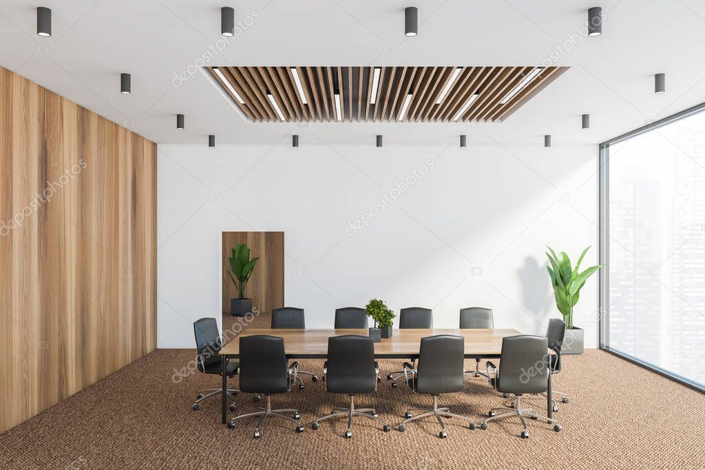
<svg viewBox="0 0 705 470">
<path fill-rule="evenodd" d="M 343 335 L 328 338 L 326 390 L 333 393 L 374 392 L 374 342 L 369 336 Z"/>
</svg>

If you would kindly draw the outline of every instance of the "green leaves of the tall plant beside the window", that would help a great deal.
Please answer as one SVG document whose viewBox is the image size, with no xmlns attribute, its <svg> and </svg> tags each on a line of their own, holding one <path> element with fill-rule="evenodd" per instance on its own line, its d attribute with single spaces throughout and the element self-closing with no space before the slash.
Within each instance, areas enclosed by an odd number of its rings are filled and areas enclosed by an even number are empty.
<svg viewBox="0 0 705 470">
<path fill-rule="evenodd" d="M 546 266 L 546 269 L 548 269 L 548 276 L 551 276 L 553 294 L 556 296 L 556 307 L 563 315 L 565 328 L 572 329 L 572 309 L 580 299 L 580 289 L 585 285 L 585 281 L 604 265 L 590 266 L 579 273 L 580 263 L 590 247 L 584 249 L 575 268 L 570 267 L 570 259 L 567 254 L 560 252 L 560 255 L 556 256 L 556 252 L 551 247 L 546 248 L 551 252 L 550 254 L 546 253 L 548 262 L 551 264 L 551 266 Z"/>
</svg>

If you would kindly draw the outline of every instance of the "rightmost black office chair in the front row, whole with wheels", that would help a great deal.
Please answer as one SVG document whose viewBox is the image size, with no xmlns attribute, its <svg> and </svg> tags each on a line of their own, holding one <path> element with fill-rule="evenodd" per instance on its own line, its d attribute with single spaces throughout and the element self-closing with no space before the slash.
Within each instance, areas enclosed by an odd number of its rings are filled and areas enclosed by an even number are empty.
<svg viewBox="0 0 705 470">
<path fill-rule="evenodd" d="M 558 421 L 546 416 L 541 416 L 535 409 L 522 409 L 522 396 L 526 393 L 542 393 L 548 390 L 548 367 L 547 351 L 548 340 L 541 336 L 517 335 L 504 338 L 502 340 L 502 355 L 499 369 L 497 366 L 487 361 L 487 375 L 489 382 L 498 392 L 515 395 L 515 408 L 498 407 L 489 412 L 489 418 L 482 421 L 480 427 L 487 428 L 489 421 L 505 418 L 507 416 L 519 416 L 524 426 L 522 438 L 529 437 L 525 416 L 531 419 L 545 419 L 553 424 L 553 431 L 560 431 L 562 428 Z M 504 413 L 497 414 L 496 410 L 504 410 Z"/>
</svg>

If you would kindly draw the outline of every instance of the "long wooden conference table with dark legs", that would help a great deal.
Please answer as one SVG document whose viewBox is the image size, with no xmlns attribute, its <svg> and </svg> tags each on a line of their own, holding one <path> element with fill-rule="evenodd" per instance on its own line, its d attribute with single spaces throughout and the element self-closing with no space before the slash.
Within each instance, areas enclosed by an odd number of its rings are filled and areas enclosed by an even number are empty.
<svg viewBox="0 0 705 470">
<path fill-rule="evenodd" d="M 409 359 L 418 357 L 421 338 L 434 335 L 456 335 L 465 338 L 465 359 L 501 358 L 502 339 L 507 336 L 520 335 L 517 330 L 505 328 L 492 329 L 399 329 L 393 330 L 391 338 L 382 338 L 374 343 L 374 357 L 377 359 Z M 328 338 L 341 335 L 367 336 L 366 329 L 276 329 L 251 328 L 244 330 L 238 338 L 251 335 L 272 335 L 284 339 L 284 352 L 289 359 L 326 359 L 328 354 Z M 236 359 L 240 357 L 240 341 L 234 338 L 219 351 L 223 357 Z M 227 376 L 226 363 L 223 362 L 223 424 L 227 420 Z M 551 374 L 548 374 L 548 411 L 551 409 Z"/>
</svg>

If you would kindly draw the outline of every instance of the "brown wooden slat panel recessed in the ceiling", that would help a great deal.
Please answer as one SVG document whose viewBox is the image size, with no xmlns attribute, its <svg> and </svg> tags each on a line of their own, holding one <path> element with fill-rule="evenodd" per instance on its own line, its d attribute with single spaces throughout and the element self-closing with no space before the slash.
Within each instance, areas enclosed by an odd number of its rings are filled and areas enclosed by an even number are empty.
<svg viewBox="0 0 705 470">
<path fill-rule="evenodd" d="M 370 103 L 374 67 L 297 67 L 305 97 L 300 96 L 289 67 L 221 67 L 223 77 L 245 104 L 240 104 L 212 67 L 208 69 L 216 83 L 253 122 L 280 120 L 266 96 L 267 90 L 285 120 L 337 120 L 334 99 L 337 86 L 341 97 L 341 121 L 352 123 L 356 119 L 357 122 L 375 122 L 378 118 L 398 120 L 410 89 L 413 90 L 412 98 L 404 120 L 450 122 L 473 94 L 478 93 L 477 99 L 459 118 L 464 121 L 503 121 L 565 73 L 568 67 L 546 68 L 505 104 L 501 104 L 502 99 L 536 67 L 463 67 L 441 104 L 436 104 L 436 99 L 453 75 L 455 66 L 381 67 L 375 104 Z M 304 98 L 307 104 L 304 104 Z"/>
</svg>

